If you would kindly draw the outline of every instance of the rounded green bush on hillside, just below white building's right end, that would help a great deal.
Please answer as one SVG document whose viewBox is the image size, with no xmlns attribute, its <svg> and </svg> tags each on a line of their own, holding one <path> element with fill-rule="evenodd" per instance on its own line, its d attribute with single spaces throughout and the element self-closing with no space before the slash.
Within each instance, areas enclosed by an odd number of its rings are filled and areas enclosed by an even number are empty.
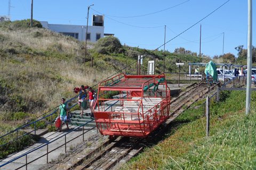
<svg viewBox="0 0 256 170">
<path fill-rule="evenodd" d="M 100 54 L 119 53 L 122 51 L 122 45 L 116 37 L 108 36 L 100 38 L 94 49 Z"/>
</svg>

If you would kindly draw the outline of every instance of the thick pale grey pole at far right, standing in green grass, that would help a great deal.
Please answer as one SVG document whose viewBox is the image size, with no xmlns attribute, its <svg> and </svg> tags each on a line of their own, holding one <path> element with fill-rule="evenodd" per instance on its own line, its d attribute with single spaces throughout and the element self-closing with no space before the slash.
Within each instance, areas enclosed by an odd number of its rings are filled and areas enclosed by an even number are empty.
<svg viewBox="0 0 256 170">
<path fill-rule="evenodd" d="M 250 113 L 252 86 L 252 0 L 248 0 L 248 38 L 247 38 L 247 84 L 246 84 L 246 112 Z"/>
</svg>

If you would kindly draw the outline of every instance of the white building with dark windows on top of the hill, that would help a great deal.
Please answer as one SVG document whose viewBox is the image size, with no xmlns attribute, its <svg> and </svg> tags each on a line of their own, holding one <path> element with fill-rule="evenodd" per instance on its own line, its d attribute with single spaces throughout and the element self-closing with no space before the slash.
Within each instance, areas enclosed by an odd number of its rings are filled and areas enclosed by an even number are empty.
<svg viewBox="0 0 256 170">
<path fill-rule="evenodd" d="M 85 41 L 86 25 L 63 25 L 49 24 L 47 21 L 40 22 L 43 28 L 63 33 L 63 35 L 74 37 L 80 41 Z M 104 16 L 92 15 L 92 26 L 88 25 L 87 41 L 94 43 L 102 37 L 104 37 Z"/>
</svg>

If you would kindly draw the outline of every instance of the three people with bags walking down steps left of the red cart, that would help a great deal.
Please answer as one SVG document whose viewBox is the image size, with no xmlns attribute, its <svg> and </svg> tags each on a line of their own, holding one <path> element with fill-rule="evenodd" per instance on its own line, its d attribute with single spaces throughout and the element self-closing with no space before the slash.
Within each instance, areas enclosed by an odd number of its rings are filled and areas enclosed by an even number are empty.
<svg viewBox="0 0 256 170">
<path fill-rule="evenodd" d="M 80 91 L 79 91 L 79 94 L 78 94 L 78 105 L 79 105 L 79 108 L 81 108 L 81 113 L 80 115 L 83 116 L 83 113 L 84 113 L 84 109 L 87 109 L 87 95 L 88 95 L 88 99 L 89 99 L 89 106 L 90 106 L 90 110 L 91 110 L 91 113 L 90 113 L 90 116 L 91 117 L 94 117 L 93 115 L 93 105 L 95 103 L 95 100 L 96 100 L 96 94 L 95 94 L 95 91 L 89 87 L 89 86 L 84 86 L 82 85 L 80 87 Z M 68 128 L 68 122 L 69 122 L 69 112 L 68 112 L 68 105 L 67 103 L 65 103 L 65 98 L 62 98 L 61 99 L 61 104 L 59 106 L 59 117 L 60 117 L 60 120 L 61 120 L 61 124 L 62 123 L 66 123 L 67 125 L 67 129 Z M 85 113 L 86 116 L 89 116 L 88 113 Z M 59 128 L 59 130 L 61 131 L 61 126 Z"/>
</svg>

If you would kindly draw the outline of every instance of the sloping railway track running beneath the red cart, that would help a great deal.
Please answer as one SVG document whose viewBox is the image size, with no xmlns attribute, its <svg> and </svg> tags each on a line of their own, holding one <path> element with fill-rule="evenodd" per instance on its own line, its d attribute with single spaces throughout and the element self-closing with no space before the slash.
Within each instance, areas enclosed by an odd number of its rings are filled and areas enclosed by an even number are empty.
<svg viewBox="0 0 256 170">
<path fill-rule="evenodd" d="M 158 130 L 150 134 L 148 138 L 118 137 L 110 139 L 67 169 L 118 169 L 121 164 L 137 155 L 147 143 L 151 143 L 150 140 L 154 139 L 153 137 L 161 135 L 163 129 L 185 109 L 190 107 L 199 98 L 206 95 L 214 87 L 215 86 L 209 87 L 202 82 L 192 84 L 186 91 L 181 92 L 179 97 L 171 100 L 170 118 L 167 119 L 161 129 L 158 128 Z"/>
</svg>

